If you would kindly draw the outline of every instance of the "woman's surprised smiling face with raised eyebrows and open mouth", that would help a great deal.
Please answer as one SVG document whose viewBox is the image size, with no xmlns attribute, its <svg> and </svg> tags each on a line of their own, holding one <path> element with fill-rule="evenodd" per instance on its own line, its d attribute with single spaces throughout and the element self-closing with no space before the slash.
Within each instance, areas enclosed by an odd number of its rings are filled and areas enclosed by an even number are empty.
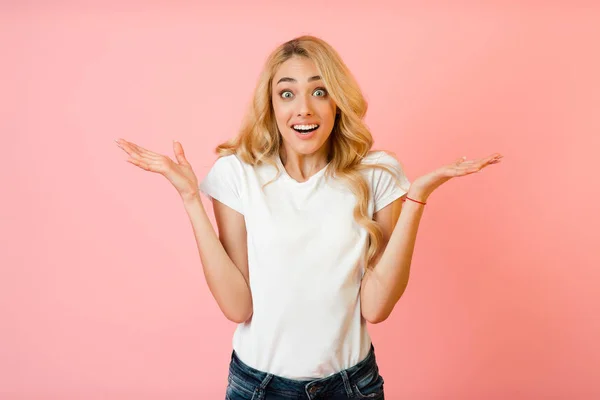
<svg viewBox="0 0 600 400">
<path fill-rule="evenodd" d="M 273 78 L 272 98 L 286 151 L 309 155 L 321 149 L 333 129 L 337 107 L 315 63 L 299 56 L 284 62 Z"/>
</svg>

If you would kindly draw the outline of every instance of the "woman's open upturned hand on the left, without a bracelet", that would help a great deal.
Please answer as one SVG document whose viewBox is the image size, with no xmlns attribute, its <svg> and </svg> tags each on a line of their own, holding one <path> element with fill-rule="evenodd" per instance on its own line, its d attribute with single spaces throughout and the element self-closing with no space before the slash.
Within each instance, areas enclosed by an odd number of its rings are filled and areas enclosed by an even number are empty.
<svg viewBox="0 0 600 400">
<path fill-rule="evenodd" d="M 177 159 L 175 162 L 167 156 L 146 150 L 124 139 L 117 139 L 115 142 L 129 154 L 127 162 L 143 170 L 163 175 L 173 184 L 180 196 L 185 197 L 198 191 L 198 178 L 185 158 L 181 143 L 173 142 L 173 151 Z"/>
</svg>

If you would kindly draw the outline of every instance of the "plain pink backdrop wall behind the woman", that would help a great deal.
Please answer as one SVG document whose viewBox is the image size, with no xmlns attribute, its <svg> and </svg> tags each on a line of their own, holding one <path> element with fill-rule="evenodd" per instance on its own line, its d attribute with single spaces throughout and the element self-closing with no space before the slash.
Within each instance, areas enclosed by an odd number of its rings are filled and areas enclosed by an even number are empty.
<svg viewBox="0 0 600 400">
<path fill-rule="evenodd" d="M 410 179 L 505 156 L 430 197 L 369 327 L 386 398 L 600 398 L 599 6 L 51 3 L 0 8 L 1 399 L 224 398 L 235 326 L 177 193 L 113 139 L 178 139 L 204 177 L 302 33 L 341 53 Z"/>
</svg>

